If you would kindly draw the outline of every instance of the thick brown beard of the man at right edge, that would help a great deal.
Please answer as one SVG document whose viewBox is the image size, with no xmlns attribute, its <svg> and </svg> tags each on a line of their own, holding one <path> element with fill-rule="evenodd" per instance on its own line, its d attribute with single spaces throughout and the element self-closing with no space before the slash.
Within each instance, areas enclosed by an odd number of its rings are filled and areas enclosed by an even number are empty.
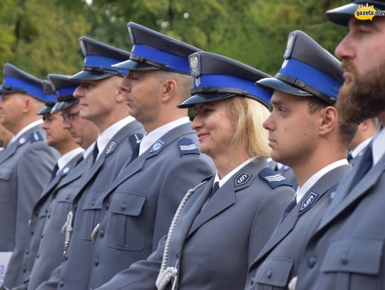
<svg viewBox="0 0 385 290">
<path fill-rule="evenodd" d="M 337 110 L 343 120 L 361 123 L 385 111 L 385 61 L 373 70 L 359 75 L 349 60 L 342 61 L 342 68 L 351 72 L 346 79 L 337 100 Z"/>
</svg>

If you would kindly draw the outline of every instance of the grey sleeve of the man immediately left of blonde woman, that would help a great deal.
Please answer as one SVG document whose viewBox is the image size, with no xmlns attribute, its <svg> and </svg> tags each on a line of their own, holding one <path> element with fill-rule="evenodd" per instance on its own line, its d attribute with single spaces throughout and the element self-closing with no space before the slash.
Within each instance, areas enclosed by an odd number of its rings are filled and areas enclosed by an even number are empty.
<svg viewBox="0 0 385 290">
<path fill-rule="evenodd" d="M 180 158 L 169 166 L 158 197 L 154 247 L 160 238 L 168 233 L 174 214 L 188 190 L 200 184 L 205 177 L 212 175 L 212 172 L 212 167 L 197 155 Z"/>
</svg>

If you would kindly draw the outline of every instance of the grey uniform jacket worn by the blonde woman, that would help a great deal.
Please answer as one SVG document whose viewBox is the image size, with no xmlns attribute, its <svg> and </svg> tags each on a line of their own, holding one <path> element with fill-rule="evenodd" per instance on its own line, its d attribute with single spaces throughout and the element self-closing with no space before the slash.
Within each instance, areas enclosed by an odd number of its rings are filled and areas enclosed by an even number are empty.
<svg viewBox="0 0 385 290">
<path fill-rule="evenodd" d="M 267 166 L 265 158 L 250 162 L 207 201 L 212 177 L 186 202 L 169 247 L 168 265 L 178 269 L 176 289 L 244 289 L 250 262 L 294 197 L 291 187 L 282 184 L 272 188 L 260 177 Z M 133 264 L 98 290 L 155 290 L 164 241 L 147 260 Z M 171 283 L 166 289 L 171 289 Z"/>
</svg>

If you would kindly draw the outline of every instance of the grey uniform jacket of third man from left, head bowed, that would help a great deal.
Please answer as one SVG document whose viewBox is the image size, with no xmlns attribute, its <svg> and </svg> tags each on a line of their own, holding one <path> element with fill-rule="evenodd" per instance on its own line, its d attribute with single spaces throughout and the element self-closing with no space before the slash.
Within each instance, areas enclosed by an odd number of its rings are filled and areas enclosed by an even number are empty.
<svg viewBox="0 0 385 290">
<path fill-rule="evenodd" d="M 46 213 L 47 219 L 37 249 L 38 256 L 29 271 L 28 289 L 36 289 L 63 261 L 65 235 L 61 233 L 61 229 L 66 222 L 68 212 L 73 209 L 73 200 L 76 199 L 81 187 L 81 176 L 86 164 L 86 160 L 83 160 L 76 165 L 52 192 L 52 200 Z"/>
</svg>

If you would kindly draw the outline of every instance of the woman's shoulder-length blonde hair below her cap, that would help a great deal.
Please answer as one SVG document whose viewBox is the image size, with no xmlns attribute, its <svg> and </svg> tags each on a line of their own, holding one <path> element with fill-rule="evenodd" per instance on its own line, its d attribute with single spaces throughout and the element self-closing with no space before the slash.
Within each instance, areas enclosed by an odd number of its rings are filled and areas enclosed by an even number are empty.
<svg viewBox="0 0 385 290">
<path fill-rule="evenodd" d="M 244 143 L 248 157 L 269 157 L 269 133 L 262 126 L 270 115 L 265 105 L 251 98 L 235 96 L 230 98 L 227 110 L 235 121 L 232 143 Z"/>
</svg>

